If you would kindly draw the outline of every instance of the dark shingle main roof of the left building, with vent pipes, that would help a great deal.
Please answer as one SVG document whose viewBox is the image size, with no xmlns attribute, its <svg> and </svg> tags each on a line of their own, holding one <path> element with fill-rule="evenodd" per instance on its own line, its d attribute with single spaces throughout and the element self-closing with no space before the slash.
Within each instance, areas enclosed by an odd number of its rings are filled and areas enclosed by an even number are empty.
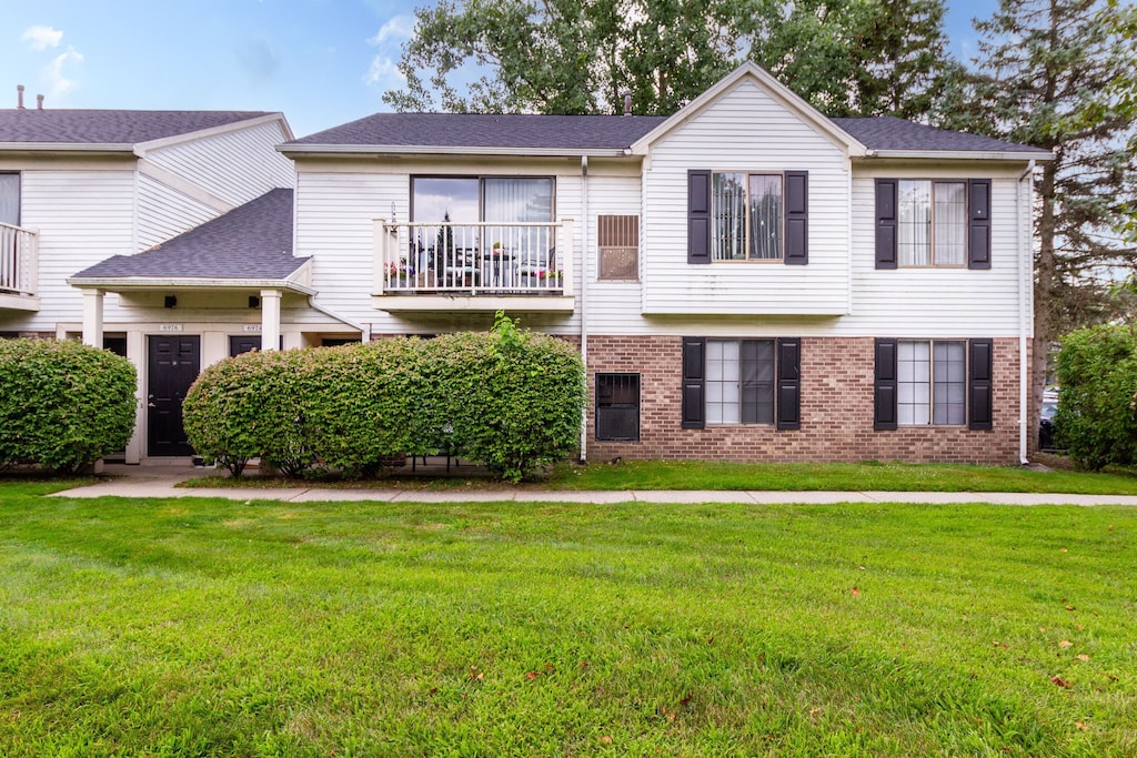
<svg viewBox="0 0 1137 758">
<path fill-rule="evenodd" d="M 139 144 L 266 115 L 255 110 L 0 109 L 0 143 Z"/>
</svg>

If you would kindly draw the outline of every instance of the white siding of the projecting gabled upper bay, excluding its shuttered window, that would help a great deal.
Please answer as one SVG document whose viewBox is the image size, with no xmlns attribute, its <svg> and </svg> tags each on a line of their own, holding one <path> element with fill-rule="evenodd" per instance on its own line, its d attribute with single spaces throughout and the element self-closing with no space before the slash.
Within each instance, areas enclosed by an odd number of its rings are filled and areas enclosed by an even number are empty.
<svg viewBox="0 0 1137 758">
<path fill-rule="evenodd" d="M 688 170 L 808 172 L 805 266 L 687 263 Z M 645 172 L 644 311 L 841 316 L 849 307 L 848 173 L 841 149 L 741 81 L 652 147 Z"/>
</svg>

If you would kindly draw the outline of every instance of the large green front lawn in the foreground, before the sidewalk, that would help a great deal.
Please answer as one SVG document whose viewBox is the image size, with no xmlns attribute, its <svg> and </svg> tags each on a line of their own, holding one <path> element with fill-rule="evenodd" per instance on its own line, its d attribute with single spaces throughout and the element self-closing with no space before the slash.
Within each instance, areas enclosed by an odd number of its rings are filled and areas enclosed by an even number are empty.
<svg viewBox="0 0 1137 758">
<path fill-rule="evenodd" d="M 7 758 L 1137 752 L 1130 509 L 52 488 L 0 483 Z"/>
</svg>

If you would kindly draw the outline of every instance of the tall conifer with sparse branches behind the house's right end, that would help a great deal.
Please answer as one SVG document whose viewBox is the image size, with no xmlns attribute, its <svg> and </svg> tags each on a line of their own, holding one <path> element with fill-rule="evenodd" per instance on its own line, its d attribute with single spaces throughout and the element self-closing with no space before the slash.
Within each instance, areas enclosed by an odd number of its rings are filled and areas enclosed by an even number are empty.
<svg viewBox="0 0 1137 758">
<path fill-rule="evenodd" d="M 1103 0 L 1001 0 L 973 69 L 951 88 L 943 125 L 1054 153 L 1035 176 L 1035 403 L 1052 340 L 1109 313 L 1137 265 L 1137 38 L 1132 8 Z"/>
</svg>

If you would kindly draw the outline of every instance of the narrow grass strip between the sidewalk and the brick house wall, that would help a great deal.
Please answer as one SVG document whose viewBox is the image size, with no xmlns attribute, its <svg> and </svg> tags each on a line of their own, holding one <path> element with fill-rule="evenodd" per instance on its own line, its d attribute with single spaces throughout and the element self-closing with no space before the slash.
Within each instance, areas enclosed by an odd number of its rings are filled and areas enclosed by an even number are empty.
<svg viewBox="0 0 1137 758">
<path fill-rule="evenodd" d="M 460 469 L 458 469 L 460 472 Z M 484 475 L 415 477 L 409 472 L 363 482 L 229 476 L 194 478 L 185 486 L 332 486 L 405 490 L 499 489 Z M 1137 494 L 1137 472 L 1031 470 L 1011 466 L 949 464 L 736 464 L 723 461 L 630 460 L 620 464 L 562 464 L 517 489 L 540 490 L 807 490 L 895 492 L 1074 492 Z"/>
</svg>

